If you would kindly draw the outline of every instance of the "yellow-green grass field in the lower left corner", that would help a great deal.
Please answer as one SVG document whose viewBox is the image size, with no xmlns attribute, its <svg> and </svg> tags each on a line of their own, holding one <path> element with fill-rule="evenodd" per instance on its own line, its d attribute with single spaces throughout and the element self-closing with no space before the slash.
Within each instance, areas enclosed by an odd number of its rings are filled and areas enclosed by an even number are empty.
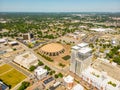
<svg viewBox="0 0 120 90">
<path fill-rule="evenodd" d="M 8 69 L 7 67 L 8 68 L 10 67 L 11 70 Z M 11 85 L 11 88 L 13 88 L 15 85 L 17 85 L 18 83 L 20 83 L 22 80 L 24 80 L 26 78 L 25 75 L 18 72 L 16 69 L 14 69 L 13 67 L 11 67 L 9 65 L 3 65 L 2 67 L 0 67 L 0 71 L 3 68 L 5 68 L 7 71 L 4 71 L 4 74 L 0 75 L 0 79 L 3 82 L 5 82 L 7 85 Z M 3 70 L 2 70 L 2 72 L 3 72 Z"/>
</svg>

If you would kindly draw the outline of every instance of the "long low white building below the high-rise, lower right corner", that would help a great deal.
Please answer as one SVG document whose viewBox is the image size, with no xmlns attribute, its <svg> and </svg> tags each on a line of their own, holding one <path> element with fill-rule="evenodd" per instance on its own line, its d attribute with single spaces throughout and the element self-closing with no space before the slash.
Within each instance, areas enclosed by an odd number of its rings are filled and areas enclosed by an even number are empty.
<svg viewBox="0 0 120 90">
<path fill-rule="evenodd" d="M 99 90 L 120 90 L 119 81 L 109 77 L 106 72 L 99 72 L 91 67 L 82 72 L 82 78 Z"/>
</svg>

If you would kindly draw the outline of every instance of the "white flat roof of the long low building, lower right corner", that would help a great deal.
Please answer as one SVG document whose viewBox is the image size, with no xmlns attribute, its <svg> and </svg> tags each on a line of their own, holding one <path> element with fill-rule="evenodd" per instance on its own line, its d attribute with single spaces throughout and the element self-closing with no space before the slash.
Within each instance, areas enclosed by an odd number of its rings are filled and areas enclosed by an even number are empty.
<svg viewBox="0 0 120 90">
<path fill-rule="evenodd" d="M 96 69 L 93 69 L 92 67 L 88 67 L 85 71 L 82 72 L 82 75 L 86 78 L 89 78 L 89 80 L 92 80 L 93 82 L 96 82 L 96 84 L 110 88 L 109 90 L 119 90 L 120 87 L 120 81 L 117 81 L 113 79 L 112 77 L 108 76 L 106 72 L 102 71 L 99 72 Z M 108 82 L 115 83 L 116 86 L 112 86 L 111 84 L 108 84 Z"/>
</svg>

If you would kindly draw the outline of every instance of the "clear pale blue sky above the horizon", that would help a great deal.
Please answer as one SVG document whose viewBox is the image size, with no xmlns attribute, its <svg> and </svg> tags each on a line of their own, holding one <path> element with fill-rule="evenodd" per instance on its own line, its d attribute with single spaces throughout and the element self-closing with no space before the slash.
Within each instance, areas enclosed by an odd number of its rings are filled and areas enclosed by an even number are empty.
<svg viewBox="0 0 120 90">
<path fill-rule="evenodd" d="M 0 0 L 0 12 L 120 12 L 120 0 Z"/>
</svg>

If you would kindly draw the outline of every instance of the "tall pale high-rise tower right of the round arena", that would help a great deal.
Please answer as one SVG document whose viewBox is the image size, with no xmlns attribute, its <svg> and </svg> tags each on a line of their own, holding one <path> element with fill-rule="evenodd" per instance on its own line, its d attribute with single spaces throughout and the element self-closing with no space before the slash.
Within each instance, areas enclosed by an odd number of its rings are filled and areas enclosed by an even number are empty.
<svg viewBox="0 0 120 90">
<path fill-rule="evenodd" d="M 88 43 L 80 43 L 72 47 L 71 60 L 70 60 L 70 71 L 81 75 L 81 72 L 90 66 L 92 60 L 92 49 Z"/>
</svg>

